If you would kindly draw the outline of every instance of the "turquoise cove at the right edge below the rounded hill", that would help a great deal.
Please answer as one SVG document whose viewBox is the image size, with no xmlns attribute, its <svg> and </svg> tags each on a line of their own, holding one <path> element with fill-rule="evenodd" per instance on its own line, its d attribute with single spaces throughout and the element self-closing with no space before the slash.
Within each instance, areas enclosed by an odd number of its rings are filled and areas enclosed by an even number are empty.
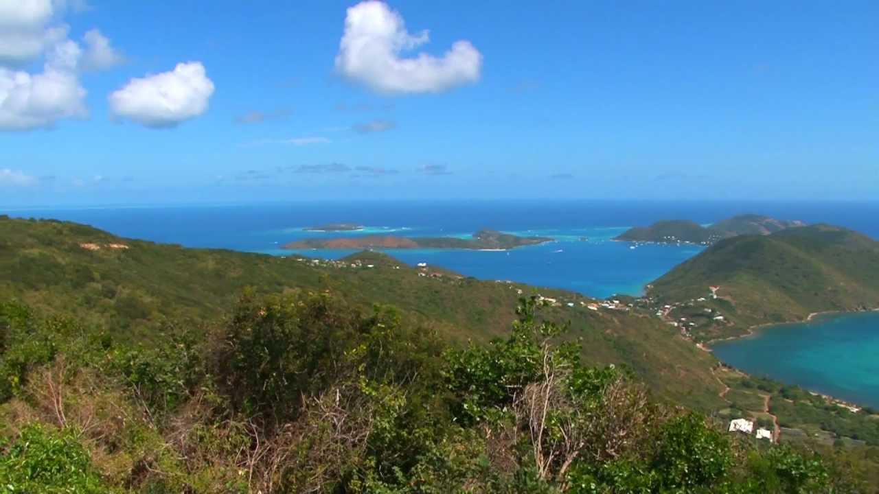
<svg viewBox="0 0 879 494">
<path fill-rule="evenodd" d="M 712 345 L 719 360 L 842 400 L 879 407 L 879 312 L 814 317 Z"/>
</svg>

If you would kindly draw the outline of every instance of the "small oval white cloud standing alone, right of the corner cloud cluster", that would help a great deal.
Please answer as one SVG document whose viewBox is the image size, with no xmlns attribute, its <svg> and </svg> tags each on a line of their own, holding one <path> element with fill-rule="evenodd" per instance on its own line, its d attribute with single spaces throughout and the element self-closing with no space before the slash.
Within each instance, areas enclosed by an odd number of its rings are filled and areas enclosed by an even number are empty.
<svg viewBox="0 0 879 494">
<path fill-rule="evenodd" d="M 110 109 L 120 119 L 146 127 L 174 127 L 207 112 L 214 83 L 201 62 L 178 63 L 170 72 L 134 78 L 110 95 Z"/>
</svg>

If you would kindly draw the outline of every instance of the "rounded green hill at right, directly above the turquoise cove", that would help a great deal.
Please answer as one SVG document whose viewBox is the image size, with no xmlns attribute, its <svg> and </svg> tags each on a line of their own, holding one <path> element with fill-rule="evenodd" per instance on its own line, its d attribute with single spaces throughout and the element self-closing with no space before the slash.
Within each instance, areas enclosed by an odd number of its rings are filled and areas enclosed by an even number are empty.
<svg viewBox="0 0 879 494">
<path fill-rule="evenodd" d="M 736 236 L 654 281 L 650 294 L 690 301 L 706 297 L 711 286 L 719 287 L 730 332 L 812 312 L 873 309 L 879 307 L 879 243 L 829 225 Z"/>
</svg>

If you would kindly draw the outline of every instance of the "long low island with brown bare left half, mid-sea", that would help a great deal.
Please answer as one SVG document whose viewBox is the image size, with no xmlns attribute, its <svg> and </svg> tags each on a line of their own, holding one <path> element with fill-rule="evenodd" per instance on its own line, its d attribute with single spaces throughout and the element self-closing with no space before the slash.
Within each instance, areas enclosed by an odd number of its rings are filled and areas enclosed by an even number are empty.
<svg viewBox="0 0 879 494">
<path fill-rule="evenodd" d="M 287 243 L 284 249 L 470 249 L 506 251 L 525 245 L 551 242 L 545 236 L 517 236 L 491 229 L 482 229 L 472 238 L 451 236 L 361 236 L 347 238 L 309 238 Z"/>
</svg>

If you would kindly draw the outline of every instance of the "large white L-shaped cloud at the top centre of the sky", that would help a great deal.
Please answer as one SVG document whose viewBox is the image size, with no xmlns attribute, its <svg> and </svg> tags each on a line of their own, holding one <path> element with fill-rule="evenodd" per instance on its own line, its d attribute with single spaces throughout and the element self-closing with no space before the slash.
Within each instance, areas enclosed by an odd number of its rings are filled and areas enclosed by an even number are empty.
<svg viewBox="0 0 879 494">
<path fill-rule="evenodd" d="M 439 58 L 425 53 L 401 56 L 403 50 L 428 40 L 427 31 L 408 33 L 403 17 L 388 5 L 377 0 L 360 2 L 347 11 L 336 69 L 375 91 L 388 93 L 447 91 L 479 79 L 483 55 L 466 40 L 455 41 Z"/>
</svg>

